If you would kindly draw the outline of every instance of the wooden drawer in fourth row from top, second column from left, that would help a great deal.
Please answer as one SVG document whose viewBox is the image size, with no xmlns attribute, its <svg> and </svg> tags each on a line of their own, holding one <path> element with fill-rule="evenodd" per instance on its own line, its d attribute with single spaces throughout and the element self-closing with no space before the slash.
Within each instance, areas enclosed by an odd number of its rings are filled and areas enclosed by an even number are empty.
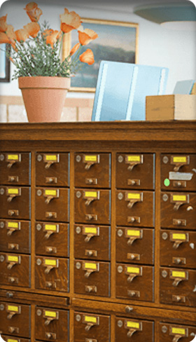
<svg viewBox="0 0 196 342">
<path fill-rule="evenodd" d="M 69 291 L 69 266 L 64 258 L 36 257 L 36 289 Z"/>
</svg>

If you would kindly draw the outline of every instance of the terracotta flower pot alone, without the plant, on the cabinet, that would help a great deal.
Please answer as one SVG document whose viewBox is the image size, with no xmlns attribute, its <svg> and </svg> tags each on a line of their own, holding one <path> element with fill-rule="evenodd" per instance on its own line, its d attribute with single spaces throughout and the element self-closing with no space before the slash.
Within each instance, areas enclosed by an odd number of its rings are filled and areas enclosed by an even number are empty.
<svg viewBox="0 0 196 342">
<path fill-rule="evenodd" d="M 29 123 L 60 120 L 70 78 L 27 76 L 18 78 L 18 85 L 27 111 Z"/>
</svg>

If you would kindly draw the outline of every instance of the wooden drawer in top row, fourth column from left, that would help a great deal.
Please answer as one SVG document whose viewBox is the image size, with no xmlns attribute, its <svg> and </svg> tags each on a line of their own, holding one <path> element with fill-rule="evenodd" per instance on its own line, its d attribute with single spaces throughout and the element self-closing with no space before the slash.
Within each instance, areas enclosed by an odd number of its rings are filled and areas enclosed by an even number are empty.
<svg viewBox="0 0 196 342">
<path fill-rule="evenodd" d="M 117 153 L 116 187 L 118 189 L 154 189 L 154 155 Z"/>
</svg>

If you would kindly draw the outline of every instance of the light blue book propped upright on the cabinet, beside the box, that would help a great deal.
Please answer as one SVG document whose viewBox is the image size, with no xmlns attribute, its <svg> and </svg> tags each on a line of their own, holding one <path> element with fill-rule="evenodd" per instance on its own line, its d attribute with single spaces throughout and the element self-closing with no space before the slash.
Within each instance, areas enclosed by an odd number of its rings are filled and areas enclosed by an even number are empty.
<svg viewBox="0 0 196 342">
<path fill-rule="evenodd" d="M 146 118 L 146 96 L 165 93 L 169 69 L 102 61 L 92 109 L 92 121 Z"/>
</svg>

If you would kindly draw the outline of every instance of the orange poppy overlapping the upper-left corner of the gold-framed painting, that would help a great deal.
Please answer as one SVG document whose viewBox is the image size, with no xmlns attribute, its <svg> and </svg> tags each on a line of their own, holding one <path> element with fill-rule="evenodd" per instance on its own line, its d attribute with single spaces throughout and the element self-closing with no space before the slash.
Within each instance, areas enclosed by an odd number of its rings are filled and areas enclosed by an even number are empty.
<svg viewBox="0 0 196 342">
<path fill-rule="evenodd" d="M 76 12 L 69 12 L 64 8 L 64 14 L 60 14 L 61 30 L 64 33 L 70 32 L 72 29 L 78 29 L 81 24 L 81 18 Z"/>
</svg>

